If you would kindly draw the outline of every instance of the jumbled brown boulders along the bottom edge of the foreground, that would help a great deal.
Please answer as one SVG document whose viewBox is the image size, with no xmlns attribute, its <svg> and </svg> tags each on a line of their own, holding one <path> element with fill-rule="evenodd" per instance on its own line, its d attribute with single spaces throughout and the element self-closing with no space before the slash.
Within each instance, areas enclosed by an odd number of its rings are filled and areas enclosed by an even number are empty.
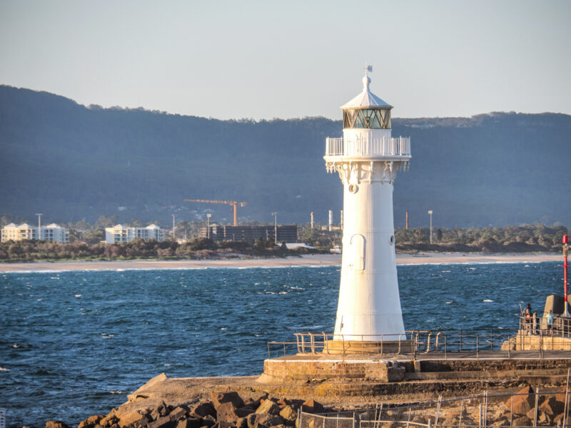
<svg viewBox="0 0 571 428">
<path fill-rule="evenodd" d="M 136 402 L 143 392 L 135 393 L 131 400 Z M 161 401 L 156 407 L 142 407 L 133 409 L 130 406 L 121 406 L 113 409 L 106 415 L 94 415 L 85 419 L 78 428 L 310 428 L 324 426 L 323 416 L 312 414 L 330 413 L 330 419 L 335 419 L 335 412 L 348 412 L 354 410 L 355 414 L 343 414 L 343 417 L 355 417 L 357 412 L 362 412 L 355 406 L 330 406 L 313 399 L 278 399 L 268 394 L 262 394 L 257 398 L 243 396 L 251 394 L 238 394 L 238 392 L 210 392 L 209 399 L 191 401 L 186 404 L 167 404 Z M 396 421 L 402 419 L 413 422 L 415 426 L 433 426 L 438 422 L 445 426 L 486 426 L 487 422 L 493 422 L 496 427 L 552 427 L 559 426 L 564 422 L 565 401 L 568 396 L 565 387 L 557 389 L 552 394 L 537 395 L 536 390 L 530 386 L 517 390 L 508 397 L 491 400 L 487 403 L 485 397 L 485 422 L 482 425 L 482 406 L 470 407 L 473 399 L 465 400 L 464 405 L 443 405 L 439 412 L 434 415 L 430 407 L 415 409 L 413 412 L 403 412 L 398 404 L 387 407 L 371 406 L 368 413 L 363 412 L 358 420 L 368 419 L 367 422 L 380 421 L 382 427 L 398 427 Z M 495 397 L 497 398 L 497 397 Z M 131 402 L 131 403 L 133 403 Z M 126 403 L 128 404 L 128 403 Z M 568 406 L 567 406 L 568 409 Z M 298 412 L 302 411 L 302 419 L 298 419 Z M 568 412 L 568 410 L 567 410 Z M 487 416 L 490 414 L 490 417 Z M 325 417 L 327 419 L 328 417 Z M 392 421 L 388 423 L 386 421 Z M 321 424 L 319 424 L 321 422 Z M 335 422 L 335 421 L 333 421 Z M 337 420 L 338 422 L 338 420 Z M 365 424 L 367 423 L 365 422 Z M 365 425 L 366 426 L 366 425 Z M 49 421 L 46 428 L 69 428 L 64 422 Z"/>
</svg>

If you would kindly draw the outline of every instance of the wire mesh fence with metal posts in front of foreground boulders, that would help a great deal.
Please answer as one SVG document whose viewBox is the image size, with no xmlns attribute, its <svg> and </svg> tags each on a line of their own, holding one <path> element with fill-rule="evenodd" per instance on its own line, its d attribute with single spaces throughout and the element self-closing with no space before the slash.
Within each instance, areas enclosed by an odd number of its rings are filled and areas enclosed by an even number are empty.
<svg viewBox="0 0 571 428">
<path fill-rule="evenodd" d="M 298 413 L 298 428 L 568 427 L 571 391 L 563 387 L 528 393 L 488 394 L 415 404 L 380 403 L 368 409 Z"/>
</svg>

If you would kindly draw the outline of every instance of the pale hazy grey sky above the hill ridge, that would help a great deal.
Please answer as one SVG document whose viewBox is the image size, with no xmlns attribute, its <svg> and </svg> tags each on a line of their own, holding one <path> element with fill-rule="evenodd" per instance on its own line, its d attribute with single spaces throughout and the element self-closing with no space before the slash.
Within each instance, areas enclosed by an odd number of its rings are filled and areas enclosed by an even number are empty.
<svg viewBox="0 0 571 428">
<path fill-rule="evenodd" d="M 214 118 L 571 113 L 571 1 L 0 0 L 0 83 Z"/>
</svg>

